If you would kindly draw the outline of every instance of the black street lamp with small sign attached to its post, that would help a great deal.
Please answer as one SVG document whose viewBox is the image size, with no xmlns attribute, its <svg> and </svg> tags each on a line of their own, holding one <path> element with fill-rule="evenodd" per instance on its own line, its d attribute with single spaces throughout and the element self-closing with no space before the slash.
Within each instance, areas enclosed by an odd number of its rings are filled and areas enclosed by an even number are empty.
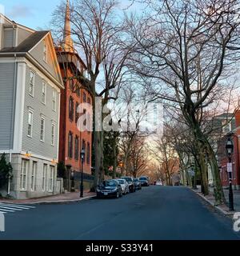
<svg viewBox="0 0 240 256">
<path fill-rule="evenodd" d="M 232 187 L 232 154 L 234 153 L 234 143 L 230 138 L 230 134 L 227 135 L 226 141 L 226 153 L 228 156 L 228 164 L 227 164 L 227 171 L 229 173 L 229 210 L 234 210 L 234 194 L 233 194 L 233 187 Z"/>
</svg>

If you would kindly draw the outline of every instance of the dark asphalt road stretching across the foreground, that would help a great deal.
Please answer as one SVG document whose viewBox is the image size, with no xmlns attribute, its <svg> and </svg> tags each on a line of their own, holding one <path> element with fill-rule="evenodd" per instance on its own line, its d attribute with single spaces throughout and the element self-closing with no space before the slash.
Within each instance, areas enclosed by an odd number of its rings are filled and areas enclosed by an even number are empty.
<svg viewBox="0 0 240 256">
<path fill-rule="evenodd" d="M 185 187 L 150 186 L 118 199 L 37 205 L 5 214 L 1 239 L 240 239 L 230 218 Z"/>
</svg>

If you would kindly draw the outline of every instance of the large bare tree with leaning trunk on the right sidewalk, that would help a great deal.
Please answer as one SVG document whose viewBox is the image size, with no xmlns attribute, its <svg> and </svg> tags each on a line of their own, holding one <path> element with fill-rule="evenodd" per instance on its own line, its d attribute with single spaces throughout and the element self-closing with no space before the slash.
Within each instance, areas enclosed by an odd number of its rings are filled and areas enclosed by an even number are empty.
<svg viewBox="0 0 240 256">
<path fill-rule="evenodd" d="M 214 176 L 218 203 L 224 195 L 218 162 L 201 129 L 202 108 L 214 101 L 215 93 L 226 86 L 238 43 L 238 1 L 148 1 L 150 12 L 143 18 L 129 18 L 134 42 L 138 42 L 131 66 L 139 76 L 150 78 L 152 94 L 178 103 L 194 134 L 195 149 L 206 194 L 205 155 Z"/>
</svg>

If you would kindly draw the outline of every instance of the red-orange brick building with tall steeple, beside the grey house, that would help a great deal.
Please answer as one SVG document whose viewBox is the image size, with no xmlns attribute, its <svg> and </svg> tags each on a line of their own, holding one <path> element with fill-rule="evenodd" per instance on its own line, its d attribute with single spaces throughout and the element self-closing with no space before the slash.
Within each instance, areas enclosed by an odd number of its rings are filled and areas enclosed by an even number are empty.
<svg viewBox="0 0 240 256">
<path fill-rule="evenodd" d="M 66 18 L 64 27 L 64 38 L 62 46 L 56 49 L 58 62 L 61 67 L 62 79 L 65 90 L 61 90 L 61 110 L 60 110 L 60 145 L 59 161 L 64 162 L 66 171 L 66 190 L 79 189 L 81 158 L 80 152 L 85 150 L 83 162 L 85 189 L 90 188 L 94 177 L 91 176 L 91 151 L 92 132 L 89 130 L 80 131 L 78 129 L 78 118 L 89 113 L 93 104 L 90 91 L 84 89 L 78 81 L 78 74 L 83 74 L 86 66 L 82 62 L 76 50 L 70 33 L 70 7 L 66 2 Z M 84 104 L 83 113 L 78 113 L 78 106 Z M 91 120 L 86 118 L 86 126 L 92 126 Z M 71 182 L 74 180 L 74 182 Z M 71 184 L 71 185 L 70 185 Z M 74 187 L 73 187 L 74 186 Z"/>
</svg>

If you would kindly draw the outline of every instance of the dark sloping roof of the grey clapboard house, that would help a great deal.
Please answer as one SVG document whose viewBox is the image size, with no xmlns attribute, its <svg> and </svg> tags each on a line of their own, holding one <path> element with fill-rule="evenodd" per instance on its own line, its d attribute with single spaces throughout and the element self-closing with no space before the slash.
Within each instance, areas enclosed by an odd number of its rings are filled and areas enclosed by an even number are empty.
<svg viewBox="0 0 240 256">
<path fill-rule="evenodd" d="M 50 31 L 36 31 L 31 34 L 17 47 L 3 48 L 0 50 L 1 53 L 26 53 L 30 51 L 42 38 L 46 36 Z"/>
</svg>

